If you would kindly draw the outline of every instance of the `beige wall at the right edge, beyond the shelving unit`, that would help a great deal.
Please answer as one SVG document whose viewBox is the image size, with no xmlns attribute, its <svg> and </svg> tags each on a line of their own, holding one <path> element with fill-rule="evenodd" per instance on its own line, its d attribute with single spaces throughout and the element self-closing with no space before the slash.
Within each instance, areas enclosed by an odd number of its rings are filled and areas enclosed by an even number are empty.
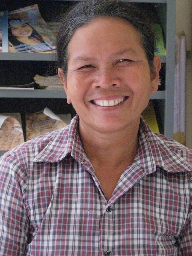
<svg viewBox="0 0 192 256">
<path fill-rule="evenodd" d="M 192 51 L 192 0 L 176 0 L 176 34 L 184 31 L 187 51 Z M 186 67 L 186 146 L 192 148 L 192 52 Z"/>
</svg>

